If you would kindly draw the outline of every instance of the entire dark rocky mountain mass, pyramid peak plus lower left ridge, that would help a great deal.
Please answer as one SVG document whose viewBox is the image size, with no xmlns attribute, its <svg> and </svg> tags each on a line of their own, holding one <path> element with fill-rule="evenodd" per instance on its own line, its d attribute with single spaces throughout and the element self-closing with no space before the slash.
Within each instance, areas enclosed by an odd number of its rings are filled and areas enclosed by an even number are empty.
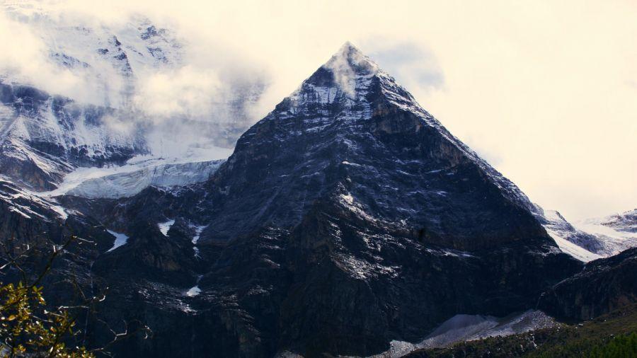
<svg viewBox="0 0 637 358">
<path fill-rule="evenodd" d="M 87 345 L 110 340 L 103 322 L 154 331 L 113 346 L 118 357 L 380 354 L 459 314 L 503 317 L 540 297 L 567 307 L 585 272 L 629 267 L 563 253 L 539 207 L 350 44 L 227 161 L 178 170 L 206 180 L 174 185 L 171 168 L 168 184 L 127 171 L 59 196 L 1 192 L 5 237 L 69 224 L 96 243 L 56 275 L 109 287 L 81 328 Z M 144 180 L 127 195 L 96 190 Z"/>
</svg>

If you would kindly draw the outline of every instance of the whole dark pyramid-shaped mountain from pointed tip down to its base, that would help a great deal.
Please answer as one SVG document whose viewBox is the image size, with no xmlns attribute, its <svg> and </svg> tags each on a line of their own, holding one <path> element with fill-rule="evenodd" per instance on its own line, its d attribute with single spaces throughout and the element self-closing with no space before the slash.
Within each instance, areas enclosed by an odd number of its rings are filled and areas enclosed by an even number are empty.
<svg viewBox="0 0 637 358">
<path fill-rule="evenodd" d="M 241 313 L 225 324 L 255 342 L 247 355 L 378 354 L 457 313 L 533 308 L 579 267 L 515 185 L 350 44 L 205 190 L 201 296 Z"/>
</svg>

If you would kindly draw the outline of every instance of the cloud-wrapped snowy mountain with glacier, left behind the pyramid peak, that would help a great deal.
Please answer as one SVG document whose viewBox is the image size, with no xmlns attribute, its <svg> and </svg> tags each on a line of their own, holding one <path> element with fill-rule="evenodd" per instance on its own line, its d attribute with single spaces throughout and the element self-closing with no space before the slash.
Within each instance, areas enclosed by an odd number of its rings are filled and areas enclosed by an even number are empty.
<svg viewBox="0 0 637 358">
<path fill-rule="evenodd" d="M 263 91 L 262 79 L 228 81 L 223 98 L 210 99 L 214 110 L 199 117 L 158 114 L 145 107 L 144 86 L 154 76 L 188 67 L 183 57 L 192 44 L 144 16 L 123 14 L 121 21 L 107 24 L 54 5 L 6 1 L 1 10 L 41 40 L 36 62 L 73 76 L 81 89 L 71 93 L 77 98 L 59 96 L 33 86 L 37 78 L 0 64 L 0 175 L 29 190 L 59 193 L 69 189 L 69 182 L 76 187 L 81 175 L 91 173 L 86 178 L 94 184 L 98 173 L 119 173 L 102 182 L 110 183 L 110 197 L 133 195 L 147 185 L 207 179 L 216 168 L 210 161 L 226 158 L 224 147 L 233 146 L 251 124 L 247 113 Z M 222 119 L 215 117 L 219 113 Z M 129 160 L 139 166 L 140 156 L 151 160 L 133 173 Z M 151 163 L 159 167 L 151 169 Z M 193 173 L 195 168 L 202 172 Z M 96 195 L 86 185 L 74 193 Z"/>
</svg>

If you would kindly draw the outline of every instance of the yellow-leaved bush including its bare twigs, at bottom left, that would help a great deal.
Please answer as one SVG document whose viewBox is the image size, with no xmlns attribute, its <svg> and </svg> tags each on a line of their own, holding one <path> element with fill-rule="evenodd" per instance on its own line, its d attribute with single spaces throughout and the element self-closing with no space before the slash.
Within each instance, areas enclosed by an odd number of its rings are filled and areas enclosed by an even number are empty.
<svg viewBox="0 0 637 358">
<path fill-rule="evenodd" d="M 78 243 L 77 246 L 71 244 Z M 71 306 L 51 308 L 47 306 L 40 282 L 49 275 L 53 262 L 59 255 L 65 255 L 81 248 L 83 243 L 92 243 L 71 235 L 62 245 L 45 241 L 44 244 L 30 245 L 20 243 L 15 238 L 0 240 L 0 275 L 13 271 L 13 277 L 21 274 L 17 284 L 0 282 L 0 358 L 5 357 L 60 357 L 88 358 L 96 353 L 111 356 L 108 347 L 117 344 L 133 335 L 143 334 L 147 339 L 151 329 L 142 322 L 123 321 L 123 332 L 117 333 L 107 322 L 96 316 L 96 306 L 105 299 L 105 294 L 94 295 L 91 284 L 91 295 L 86 295 L 81 284 L 76 281 L 73 272 L 65 272 L 64 283 L 74 289 L 76 298 Z M 50 250 L 52 249 L 52 250 Z M 86 252 L 85 252 L 86 253 Z M 42 260 L 42 258 L 48 258 Z M 38 260 L 44 265 L 37 265 Z M 34 265 L 36 263 L 36 265 Z M 35 275 L 35 272 L 40 272 Z M 34 277 L 35 279 L 29 279 Z M 24 282 L 29 282 L 25 284 Z M 66 304 L 69 304 L 67 302 Z M 68 347 L 71 342 L 78 342 L 80 331 L 76 330 L 76 319 L 86 314 L 86 322 L 94 318 L 103 328 L 112 333 L 112 339 L 101 347 Z M 131 329 L 132 323 L 132 329 Z"/>
</svg>

